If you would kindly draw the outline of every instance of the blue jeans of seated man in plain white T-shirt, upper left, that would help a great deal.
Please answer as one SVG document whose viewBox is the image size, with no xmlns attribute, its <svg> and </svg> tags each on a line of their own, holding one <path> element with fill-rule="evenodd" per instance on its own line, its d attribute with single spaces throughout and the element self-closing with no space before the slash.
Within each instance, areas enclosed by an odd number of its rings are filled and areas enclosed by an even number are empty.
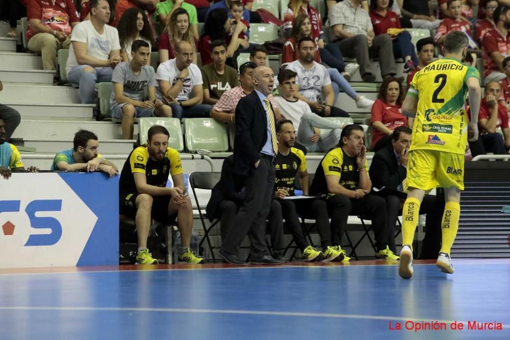
<svg viewBox="0 0 510 340">
<path fill-rule="evenodd" d="M 69 83 L 79 84 L 80 98 L 82 104 L 95 104 L 96 91 L 95 83 L 107 83 L 112 81 L 113 68 L 99 67 L 95 68 L 95 72 L 84 72 L 83 69 L 88 65 L 74 66 L 67 74 Z"/>
</svg>

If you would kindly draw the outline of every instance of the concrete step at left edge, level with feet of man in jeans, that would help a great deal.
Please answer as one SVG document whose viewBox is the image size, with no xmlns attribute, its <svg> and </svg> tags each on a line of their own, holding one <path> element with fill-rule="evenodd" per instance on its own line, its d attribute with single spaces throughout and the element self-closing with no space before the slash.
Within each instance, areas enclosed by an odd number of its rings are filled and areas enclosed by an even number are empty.
<svg viewBox="0 0 510 340">
<path fill-rule="evenodd" d="M 4 84 L 0 102 L 79 104 L 80 93 L 71 86 Z"/>
</svg>

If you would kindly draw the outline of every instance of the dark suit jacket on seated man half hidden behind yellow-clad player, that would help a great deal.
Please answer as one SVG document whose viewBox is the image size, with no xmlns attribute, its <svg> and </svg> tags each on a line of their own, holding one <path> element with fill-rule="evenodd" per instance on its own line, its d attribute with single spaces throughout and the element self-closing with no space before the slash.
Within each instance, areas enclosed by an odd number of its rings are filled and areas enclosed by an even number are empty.
<svg viewBox="0 0 510 340">
<path fill-rule="evenodd" d="M 386 187 L 397 190 L 405 179 L 407 170 L 402 165 L 398 165 L 393 145 L 388 145 L 375 153 L 369 174 L 373 188 Z"/>
</svg>

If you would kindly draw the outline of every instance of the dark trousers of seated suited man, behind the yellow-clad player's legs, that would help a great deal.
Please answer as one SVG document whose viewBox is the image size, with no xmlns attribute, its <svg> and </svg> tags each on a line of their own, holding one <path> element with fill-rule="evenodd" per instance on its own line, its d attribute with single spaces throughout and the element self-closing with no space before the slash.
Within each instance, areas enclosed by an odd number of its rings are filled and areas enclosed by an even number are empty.
<svg viewBox="0 0 510 340">
<path fill-rule="evenodd" d="M 388 246 L 396 252 L 395 225 L 398 216 L 402 215 L 400 208 L 402 200 L 394 195 L 386 196 L 386 211 L 388 218 Z M 425 195 L 420 205 L 420 215 L 427 214 L 425 222 L 425 238 L 420 252 L 420 258 L 435 259 L 441 250 L 441 220 L 445 207 L 444 195 Z"/>
</svg>

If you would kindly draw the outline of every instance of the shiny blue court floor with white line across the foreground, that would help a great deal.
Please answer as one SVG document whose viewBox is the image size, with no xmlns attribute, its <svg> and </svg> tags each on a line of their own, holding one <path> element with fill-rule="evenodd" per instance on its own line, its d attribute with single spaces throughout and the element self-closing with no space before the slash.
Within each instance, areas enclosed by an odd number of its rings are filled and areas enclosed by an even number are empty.
<svg viewBox="0 0 510 340">
<path fill-rule="evenodd" d="M 411 280 L 375 261 L 0 270 L 0 339 L 510 339 L 510 260 L 454 267 L 416 261 Z"/>
</svg>

